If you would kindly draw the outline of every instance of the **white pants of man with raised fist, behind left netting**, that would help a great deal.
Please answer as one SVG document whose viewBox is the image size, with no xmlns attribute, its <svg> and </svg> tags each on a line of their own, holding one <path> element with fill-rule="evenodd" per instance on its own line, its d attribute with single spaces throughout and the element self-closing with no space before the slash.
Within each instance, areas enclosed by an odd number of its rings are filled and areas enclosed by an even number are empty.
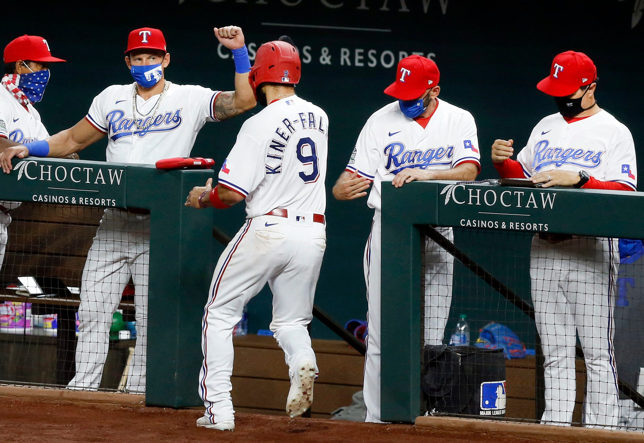
<svg viewBox="0 0 644 443">
<path fill-rule="evenodd" d="M 106 209 L 82 273 L 76 375 L 68 388 L 97 390 L 108 356 L 109 328 L 129 279 L 135 287 L 137 343 L 126 390 L 146 391 L 147 276 L 150 216 Z"/>
</svg>

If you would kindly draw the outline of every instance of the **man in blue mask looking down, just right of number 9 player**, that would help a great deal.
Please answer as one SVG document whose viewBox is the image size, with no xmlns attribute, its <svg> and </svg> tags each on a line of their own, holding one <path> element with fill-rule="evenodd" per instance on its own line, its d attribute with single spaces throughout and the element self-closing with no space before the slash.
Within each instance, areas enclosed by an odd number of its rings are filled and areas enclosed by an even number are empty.
<svg viewBox="0 0 644 443">
<path fill-rule="evenodd" d="M 401 60 L 396 80 L 384 93 L 396 102 L 367 120 L 333 194 L 353 200 L 374 187 L 367 204 L 375 209 L 365 249 L 369 333 L 365 363 L 366 421 L 380 422 L 380 211 L 383 180 L 401 187 L 413 180 L 473 180 L 480 169 L 477 127 L 472 115 L 439 100 L 435 62 L 418 55 Z M 386 185 L 386 184 L 385 184 Z M 453 240 L 451 228 L 440 229 Z M 426 344 L 441 344 L 450 314 L 453 258 L 433 241 L 426 243 Z"/>
</svg>

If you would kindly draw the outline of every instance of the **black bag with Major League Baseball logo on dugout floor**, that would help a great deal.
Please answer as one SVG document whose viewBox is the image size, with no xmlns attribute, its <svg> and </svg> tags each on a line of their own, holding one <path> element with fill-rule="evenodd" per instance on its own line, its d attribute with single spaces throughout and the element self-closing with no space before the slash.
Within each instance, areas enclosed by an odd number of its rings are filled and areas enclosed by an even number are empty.
<svg viewBox="0 0 644 443">
<path fill-rule="evenodd" d="M 506 415 L 506 362 L 501 349 L 427 345 L 421 388 L 430 414 Z"/>
</svg>

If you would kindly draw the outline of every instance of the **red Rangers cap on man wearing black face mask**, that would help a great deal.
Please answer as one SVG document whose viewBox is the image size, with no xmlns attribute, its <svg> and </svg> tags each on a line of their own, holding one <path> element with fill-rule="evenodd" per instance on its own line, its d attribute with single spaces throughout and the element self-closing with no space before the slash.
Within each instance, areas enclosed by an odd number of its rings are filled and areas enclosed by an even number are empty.
<svg viewBox="0 0 644 443">
<path fill-rule="evenodd" d="M 536 88 L 547 95 L 565 97 L 596 79 L 597 68 L 590 57 L 583 52 L 566 51 L 554 57 L 550 75 Z"/>
</svg>

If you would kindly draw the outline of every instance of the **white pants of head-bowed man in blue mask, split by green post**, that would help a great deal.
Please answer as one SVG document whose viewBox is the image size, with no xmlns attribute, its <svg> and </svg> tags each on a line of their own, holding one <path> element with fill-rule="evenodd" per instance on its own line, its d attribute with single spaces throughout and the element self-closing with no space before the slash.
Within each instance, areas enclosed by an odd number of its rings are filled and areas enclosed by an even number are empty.
<svg viewBox="0 0 644 443">
<path fill-rule="evenodd" d="M 443 236 L 454 241 L 451 228 L 437 228 Z M 444 249 L 427 239 L 425 243 L 425 308 L 424 343 L 441 344 L 445 325 L 450 316 L 454 259 Z M 363 393 L 367 422 L 381 422 L 380 351 L 381 351 L 381 222 L 374 220 L 366 242 L 365 283 L 367 297 L 368 335 L 366 337 L 365 382 Z"/>
</svg>

